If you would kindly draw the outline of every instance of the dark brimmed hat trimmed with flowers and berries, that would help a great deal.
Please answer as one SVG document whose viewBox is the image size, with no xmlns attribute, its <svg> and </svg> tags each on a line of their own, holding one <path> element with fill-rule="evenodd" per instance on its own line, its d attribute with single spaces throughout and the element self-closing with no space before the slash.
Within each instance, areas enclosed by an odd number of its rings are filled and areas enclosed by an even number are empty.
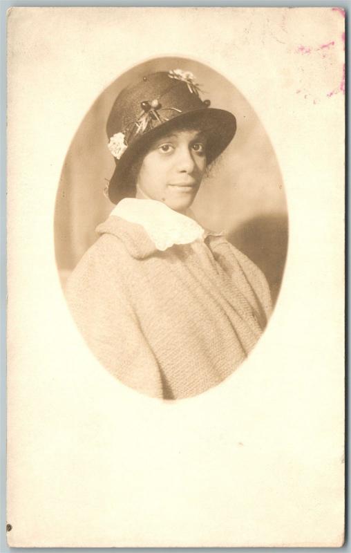
<svg viewBox="0 0 351 553">
<path fill-rule="evenodd" d="M 207 163 L 216 159 L 234 137 L 234 115 L 210 108 L 209 100 L 201 100 L 200 86 L 194 78 L 189 71 L 180 69 L 152 73 L 117 96 L 106 125 L 108 149 L 116 163 L 108 185 L 108 197 L 113 203 L 133 195 L 127 184 L 131 164 L 164 132 L 188 125 L 206 131 Z"/>
</svg>

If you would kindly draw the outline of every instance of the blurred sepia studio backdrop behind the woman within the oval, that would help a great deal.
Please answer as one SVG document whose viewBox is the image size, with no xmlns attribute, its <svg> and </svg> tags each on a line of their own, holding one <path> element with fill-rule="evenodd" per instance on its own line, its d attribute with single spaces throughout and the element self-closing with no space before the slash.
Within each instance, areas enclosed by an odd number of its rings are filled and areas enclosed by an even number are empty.
<svg viewBox="0 0 351 553">
<path fill-rule="evenodd" d="M 105 126 L 118 93 L 154 71 L 191 71 L 211 107 L 236 115 L 237 132 L 202 182 L 193 203 L 198 222 L 225 231 L 229 241 L 265 273 L 276 301 L 287 254 L 287 205 L 281 172 L 258 115 L 230 81 L 191 59 L 151 59 L 117 77 L 86 113 L 67 152 L 55 208 L 55 252 L 62 286 L 98 235 L 95 227 L 113 209 L 104 188 L 115 161 L 108 151 Z M 240 83 L 238 84 L 240 87 Z"/>
</svg>

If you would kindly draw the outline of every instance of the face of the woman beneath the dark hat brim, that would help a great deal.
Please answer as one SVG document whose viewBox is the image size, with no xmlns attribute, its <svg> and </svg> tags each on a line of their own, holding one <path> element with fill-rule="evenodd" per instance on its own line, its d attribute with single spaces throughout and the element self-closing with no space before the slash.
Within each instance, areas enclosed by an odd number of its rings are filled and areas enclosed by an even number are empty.
<svg viewBox="0 0 351 553">
<path fill-rule="evenodd" d="M 196 130 L 171 131 L 146 153 L 137 177 L 136 197 L 144 194 L 184 212 L 193 203 L 205 169 L 205 135 Z"/>
</svg>

